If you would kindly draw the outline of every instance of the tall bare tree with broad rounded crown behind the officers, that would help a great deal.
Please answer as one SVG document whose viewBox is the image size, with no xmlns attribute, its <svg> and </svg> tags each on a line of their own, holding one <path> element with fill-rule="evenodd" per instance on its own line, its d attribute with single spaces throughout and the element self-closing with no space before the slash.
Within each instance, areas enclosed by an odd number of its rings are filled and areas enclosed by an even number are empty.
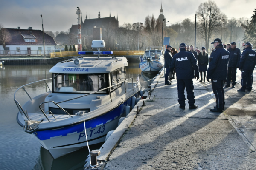
<svg viewBox="0 0 256 170">
<path fill-rule="evenodd" d="M 210 39 L 215 33 L 219 33 L 221 31 L 221 21 L 226 20 L 227 17 L 212 0 L 201 3 L 198 6 L 196 13 L 198 14 L 199 19 L 199 36 L 204 40 L 205 48 L 208 52 Z"/>
</svg>

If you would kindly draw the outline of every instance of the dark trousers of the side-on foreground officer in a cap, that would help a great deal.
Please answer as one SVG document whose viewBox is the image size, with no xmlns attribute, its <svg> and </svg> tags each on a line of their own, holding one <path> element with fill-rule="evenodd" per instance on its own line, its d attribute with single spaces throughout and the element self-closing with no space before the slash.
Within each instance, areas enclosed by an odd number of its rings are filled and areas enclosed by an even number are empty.
<svg viewBox="0 0 256 170">
<path fill-rule="evenodd" d="M 216 107 L 224 108 L 225 105 L 225 93 L 223 89 L 223 80 L 212 80 L 212 91 L 216 97 Z"/>
</svg>

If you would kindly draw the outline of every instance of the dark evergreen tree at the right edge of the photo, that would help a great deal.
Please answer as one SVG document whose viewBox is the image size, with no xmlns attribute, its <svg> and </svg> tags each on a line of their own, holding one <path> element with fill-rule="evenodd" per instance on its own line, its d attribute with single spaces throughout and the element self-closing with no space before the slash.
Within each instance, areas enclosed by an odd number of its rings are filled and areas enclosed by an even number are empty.
<svg viewBox="0 0 256 170">
<path fill-rule="evenodd" d="M 241 23 L 241 26 L 244 28 L 244 42 L 250 42 L 256 45 L 256 8 L 254 9 L 254 14 L 251 17 L 250 22 Z"/>
</svg>

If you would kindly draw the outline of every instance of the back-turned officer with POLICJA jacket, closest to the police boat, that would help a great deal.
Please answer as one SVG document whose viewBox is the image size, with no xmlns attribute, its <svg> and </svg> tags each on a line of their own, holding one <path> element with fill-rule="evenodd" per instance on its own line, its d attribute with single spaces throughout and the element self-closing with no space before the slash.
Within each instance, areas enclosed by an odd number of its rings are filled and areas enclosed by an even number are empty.
<svg viewBox="0 0 256 170">
<path fill-rule="evenodd" d="M 193 53 L 186 51 L 186 44 L 180 44 L 180 52 L 175 54 L 172 59 L 170 72 L 176 70 L 177 77 L 177 90 L 178 90 L 178 102 L 181 109 L 185 109 L 185 95 L 184 90 L 186 87 L 187 98 L 189 100 L 189 109 L 195 109 L 198 106 L 195 105 L 194 85 L 193 78 L 199 79 L 199 69 L 196 58 Z"/>
</svg>

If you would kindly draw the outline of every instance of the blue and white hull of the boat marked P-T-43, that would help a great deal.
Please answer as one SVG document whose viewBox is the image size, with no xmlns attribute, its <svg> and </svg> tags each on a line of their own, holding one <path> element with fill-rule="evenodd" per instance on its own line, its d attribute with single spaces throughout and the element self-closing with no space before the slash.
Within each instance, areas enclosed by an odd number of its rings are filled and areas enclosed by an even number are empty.
<svg viewBox="0 0 256 170">
<path fill-rule="evenodd" d="M 131 97 L 102 116 L 85 122 L 89 145 L 105 142 L 107 133 L 115 130 L 119 119 L 125 116 L 127 105 L 131 107 Z M 87 146 L 84 122 L 58 129 L 37 131 L 33 134 L 55 159 Z"/>
</svg>

